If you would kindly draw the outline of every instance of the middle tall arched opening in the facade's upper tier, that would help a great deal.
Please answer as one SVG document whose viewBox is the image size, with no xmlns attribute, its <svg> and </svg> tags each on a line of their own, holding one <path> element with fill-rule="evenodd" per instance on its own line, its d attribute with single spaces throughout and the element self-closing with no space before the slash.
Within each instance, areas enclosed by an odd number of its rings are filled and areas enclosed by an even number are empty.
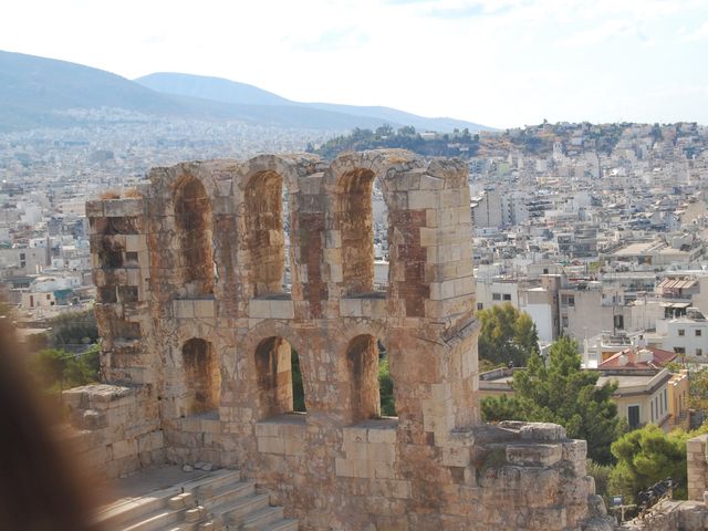
<svg viewBox="0 0 708 531">
<path fill-rule="evenodd" d="M 253 295 L 288 293 L 290 275 L 285 275 L 285 270 L 290 227 L 282 176 L 275 171 L 253 176 L 246 188 L 244 200 Z"/>
</svg>

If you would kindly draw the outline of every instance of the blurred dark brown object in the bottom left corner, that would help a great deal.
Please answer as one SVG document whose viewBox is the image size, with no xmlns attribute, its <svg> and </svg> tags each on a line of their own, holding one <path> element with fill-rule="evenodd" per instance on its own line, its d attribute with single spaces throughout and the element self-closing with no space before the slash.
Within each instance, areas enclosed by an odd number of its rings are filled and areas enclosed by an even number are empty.
<svg viewBox="0 0 708 531">
<path fill-rule="evenodd" d="M 51 409 L 0 320 L 0 530 L 97 530 L 91 485 L 56 437 Z"/>
</svg>

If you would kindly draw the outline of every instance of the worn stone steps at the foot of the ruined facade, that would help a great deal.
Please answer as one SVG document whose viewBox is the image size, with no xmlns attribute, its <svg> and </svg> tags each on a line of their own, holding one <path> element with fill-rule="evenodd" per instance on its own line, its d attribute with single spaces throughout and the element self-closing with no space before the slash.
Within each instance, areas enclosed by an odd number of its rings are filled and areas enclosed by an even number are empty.
<svg viewBox="0 0 708 531">
<path fill-rule="evenodd" d="M 219 470 L 147 496 L 113 503 L 96 517 L 106 531 L 296 531 L 282 507 L 238 470 Z"/>
</svg>

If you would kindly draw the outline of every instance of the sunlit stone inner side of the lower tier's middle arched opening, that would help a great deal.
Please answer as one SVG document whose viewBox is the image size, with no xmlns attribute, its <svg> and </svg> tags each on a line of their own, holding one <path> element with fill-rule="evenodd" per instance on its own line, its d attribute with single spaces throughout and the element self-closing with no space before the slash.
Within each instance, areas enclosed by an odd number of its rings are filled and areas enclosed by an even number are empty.
<svg viewBox="0 0 708 531">
<path fill-rule="evenodd" d="M 256 385 L 260 417 L 294 412 L 291 343 L 282 336 L 262 340 L 254 351 Z"/>
</svg>

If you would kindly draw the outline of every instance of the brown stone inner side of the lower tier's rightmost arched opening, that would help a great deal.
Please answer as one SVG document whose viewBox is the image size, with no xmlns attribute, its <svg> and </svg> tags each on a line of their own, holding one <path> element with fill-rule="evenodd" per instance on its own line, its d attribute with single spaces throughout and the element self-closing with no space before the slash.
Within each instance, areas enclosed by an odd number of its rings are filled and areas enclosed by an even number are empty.
<svg viewBox="0 0 708 531">
<path fill-rule="evenodd" d="M 346 368 L 352 421 L 381 416 L 378 340 L 361 334 L 346 346 Z"/>
</svg>

